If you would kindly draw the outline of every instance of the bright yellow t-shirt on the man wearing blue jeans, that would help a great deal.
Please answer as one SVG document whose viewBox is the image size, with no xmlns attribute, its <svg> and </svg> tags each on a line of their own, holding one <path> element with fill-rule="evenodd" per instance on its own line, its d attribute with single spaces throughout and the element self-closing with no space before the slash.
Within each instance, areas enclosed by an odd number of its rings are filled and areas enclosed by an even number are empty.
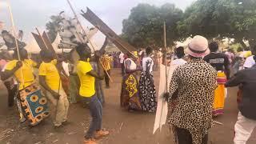
<svg viewBox="0 0 256 144">
<path fill-rule="evenodd" d="M 80 90 L 79 94 L 82 97 L 91 97 L 95 94 L 94 82 L 95 78 L 89 74 L 90 70 L 93 70 L 90 62 L 78 61 L 78 77 L 80 79 Z"/>
</svg>

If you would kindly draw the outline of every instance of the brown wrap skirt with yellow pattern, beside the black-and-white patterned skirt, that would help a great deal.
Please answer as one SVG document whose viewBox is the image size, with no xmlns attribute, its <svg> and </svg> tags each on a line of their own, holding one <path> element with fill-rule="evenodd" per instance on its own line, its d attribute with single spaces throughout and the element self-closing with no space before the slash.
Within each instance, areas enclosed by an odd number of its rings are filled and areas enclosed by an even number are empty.
<svg viewBox="0 0 256 144">
<path fill-rule="evenodd" d="M 126 74 L 122 78 L 120 103 L 128 110 L 142 110 L 139 99 L 138 80 L 134 74 Z"/>
</svg>

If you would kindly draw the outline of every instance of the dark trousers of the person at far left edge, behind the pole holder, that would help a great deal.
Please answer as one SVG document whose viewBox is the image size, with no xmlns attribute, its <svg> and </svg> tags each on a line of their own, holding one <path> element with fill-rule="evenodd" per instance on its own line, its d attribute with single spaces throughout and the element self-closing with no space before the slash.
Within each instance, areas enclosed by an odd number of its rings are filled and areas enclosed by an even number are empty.
<svg viewBox="0 0 256 144">
<path fill-rule="evenodd" d="M 6 89 L 8 91 L 8 106 L 14 106 L 14 97 L 18 93 L 18 85 L 11 86 L 11 82 L 4 82 Z"/>
</svg>

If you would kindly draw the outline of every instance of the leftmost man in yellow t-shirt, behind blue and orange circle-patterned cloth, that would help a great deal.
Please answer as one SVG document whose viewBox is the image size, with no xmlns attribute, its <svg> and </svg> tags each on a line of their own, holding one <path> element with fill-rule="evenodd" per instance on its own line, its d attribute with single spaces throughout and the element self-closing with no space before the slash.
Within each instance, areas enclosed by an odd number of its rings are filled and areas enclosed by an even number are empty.
<svg viewBox="0 0 256 144">
<path fill-rule="evenodd" d="M 14 60 L 6 64 L 5 70 L 2 72 L 2 80 L 6 80 L 12 76 L 16 78 L 19 83 L 18 90 L 23 90 L 27 86 L 30 86 L 35 82 L 33 67 L 37 67 L 37 63 L 28 59 L 28 54 L 25 49 L 19 50 L 21 61 L 18 61 L 18 53 L 14 52 Z M 20 113 L 20 121 L 25 122 L 26 118 L 22 114 L 22 106 L 20 106 L 19 95 L 18 95 L 18 108 Z"/>
</svg>

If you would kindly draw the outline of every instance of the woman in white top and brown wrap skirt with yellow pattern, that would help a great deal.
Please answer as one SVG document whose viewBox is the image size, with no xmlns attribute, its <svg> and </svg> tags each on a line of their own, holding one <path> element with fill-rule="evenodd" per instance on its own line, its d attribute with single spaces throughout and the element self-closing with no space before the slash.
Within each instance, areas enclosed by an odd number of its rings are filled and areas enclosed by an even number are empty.
<svg viewBox="0 0 256 144">
<path fill-rule="evenodd" d="M 122 107 L 128 110 L 142 110 L 141 102 L 139 99 L 138 79 L 136 78 L 136 71 L 141 70 L 137 67 L 131 54 L 126 54 L 125 59 L 125 72 L 122 78 L 122 90 L 120 103 Z"/>
</svg>

